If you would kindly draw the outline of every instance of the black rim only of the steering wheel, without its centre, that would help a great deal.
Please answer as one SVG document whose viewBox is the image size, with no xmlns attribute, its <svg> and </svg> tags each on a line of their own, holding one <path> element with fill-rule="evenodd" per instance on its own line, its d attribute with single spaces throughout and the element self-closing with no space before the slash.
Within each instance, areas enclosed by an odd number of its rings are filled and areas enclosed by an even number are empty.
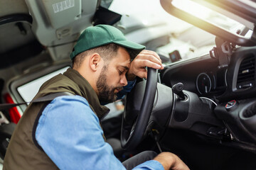
<svg viewBox="0 0 256 170">
<path fill-rule="evenodd" d="M 147 80 L 146 87 L 144 90 L 144 97 L 142 100 L 142 106 L 139 110 L 139 115 L 137 120 L 132 126 L 131 131 L 129 132 L 129 137 L 127 137 L 126 122 L 125 122 L 125 112 L 122 117 L 122 130 L 121 130 L 121 145 L 123 149 L 133 149 L 139 145 L 141 142 L 146 126 L 149 123 L 149 118 L 151 111 L 153 109 L 154 98 L 156 95 L 156 84 L 157 84 L 157 69 L 149 68 L 147 69 Z"/>
</svg>

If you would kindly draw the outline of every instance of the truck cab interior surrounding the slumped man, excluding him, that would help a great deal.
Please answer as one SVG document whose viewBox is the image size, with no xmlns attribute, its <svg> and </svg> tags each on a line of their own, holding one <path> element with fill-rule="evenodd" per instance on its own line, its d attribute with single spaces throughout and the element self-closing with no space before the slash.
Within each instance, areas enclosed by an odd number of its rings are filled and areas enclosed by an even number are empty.
<svg viewBox="0 0 256 170">
<path fill-rule="evenodd" d="M 128 3 L 143 12 L 129 13 Z M 163 14 L 144 12 L 150 6 Z M 255 1 L 2 0 L 1 103 L 31 101 L 43 81 L 72 67 L 82 30 L 100 23 L 164 64 L 107 105 L 102 127 L 118 159 L 168 151 L 190 169 L 256 169 Z M 1 159 L 25 110 L 1 109 Z"/>
</svg>

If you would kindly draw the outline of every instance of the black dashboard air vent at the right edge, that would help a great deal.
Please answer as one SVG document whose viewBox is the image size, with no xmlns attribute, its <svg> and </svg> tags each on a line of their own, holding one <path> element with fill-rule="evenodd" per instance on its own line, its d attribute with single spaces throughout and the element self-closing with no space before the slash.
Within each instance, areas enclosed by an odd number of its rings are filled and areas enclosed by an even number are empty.
<svg viewBox="0 0 256 170">
<path fill-rule="evenodd" d="M 253 85 L 255 81 L 255 56 L 248 55 L 242 60 L 239 71 L 237 88 L 244 89 Z"/>
</svg>

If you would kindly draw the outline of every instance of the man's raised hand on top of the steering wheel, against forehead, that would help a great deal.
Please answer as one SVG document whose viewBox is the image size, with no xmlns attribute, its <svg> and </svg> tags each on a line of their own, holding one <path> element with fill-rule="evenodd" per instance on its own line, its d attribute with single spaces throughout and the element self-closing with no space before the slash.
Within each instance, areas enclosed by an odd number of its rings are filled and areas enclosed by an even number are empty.
<svg viewBox="0 0 256 170">
<path fill-rule="evenodd" d="M 146 78 L 145 67 L 152 67 L 154 69 L 164 69 L 161 64 L 161 59 L 156 52 L 150 50 L 142 50 L 142 52 L 134 58 L 131 62 L 127 72 L 127 80 L 132 81 L 135 77 Z"/>
</svg>

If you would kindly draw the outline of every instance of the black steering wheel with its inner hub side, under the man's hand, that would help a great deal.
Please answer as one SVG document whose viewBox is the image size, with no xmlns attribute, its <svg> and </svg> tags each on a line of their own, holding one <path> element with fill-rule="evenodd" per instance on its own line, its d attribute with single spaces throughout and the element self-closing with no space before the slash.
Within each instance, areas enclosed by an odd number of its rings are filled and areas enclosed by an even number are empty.
<svg viewBox="0 0 256 170">
<path fill-rule="evenodd" d="M 157 70 L 147 68 L 147 80 L 137 83 L 127 95 L 122 117 L 121 145 L 133 149 L 139 145 L 154 104 L 157 84 Z"/>
</svg>

